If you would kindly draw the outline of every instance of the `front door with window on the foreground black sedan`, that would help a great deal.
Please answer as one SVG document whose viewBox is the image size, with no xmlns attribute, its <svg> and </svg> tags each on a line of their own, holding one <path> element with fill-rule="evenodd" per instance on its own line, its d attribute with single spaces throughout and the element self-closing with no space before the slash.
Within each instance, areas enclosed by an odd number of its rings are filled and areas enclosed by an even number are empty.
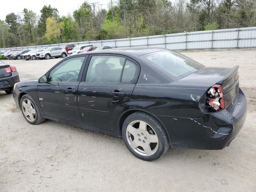
<svg viewBox="0 0 256 192">
<path fill-rule="evenodd" d="M 45 115 L 82 122 L 77 90 L 87 56 L 68 58 L 47 74 L 47 82 L 38 84 L 38 100 Z"/>
</svg>

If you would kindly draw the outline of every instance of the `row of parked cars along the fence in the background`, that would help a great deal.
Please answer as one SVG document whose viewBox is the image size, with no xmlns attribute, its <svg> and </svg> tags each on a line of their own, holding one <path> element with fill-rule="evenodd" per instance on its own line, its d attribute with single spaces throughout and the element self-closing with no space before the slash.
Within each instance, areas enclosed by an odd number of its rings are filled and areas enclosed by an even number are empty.
<svg viewBox="0 0 256 192">
<path fill-rule="evenodd" d="M 92 44 L 79 45 L 66 44 L 61 47 L 46 47 L 42 49 L 33 50 L 5 50 L 0 52 L 0 59 L 24 59 L 24 60 L 36 60 L 36 59 L 50 59 L 50 58 L 65 58 L 71 54 L 78 54 L 82 52 L 89 52 L 93 50 L 111 49 L 110 46 L 96 47 Z"/>
</svg>

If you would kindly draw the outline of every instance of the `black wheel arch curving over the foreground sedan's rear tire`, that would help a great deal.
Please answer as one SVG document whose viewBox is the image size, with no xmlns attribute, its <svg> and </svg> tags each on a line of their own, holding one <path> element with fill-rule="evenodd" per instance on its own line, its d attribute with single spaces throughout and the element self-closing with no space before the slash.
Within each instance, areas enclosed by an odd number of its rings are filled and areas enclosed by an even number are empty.
<svg viewBox="0 0 256 192">
<path fill-rule="evenodd" d="M 135 113 L 135 112 L 144 112 L 146 114 L 149 114 L 150 116 L 154 117 L 156 120 L 158 120 L 158 122 L 164 127 L 164 130 L 166 132 L 166 135 L 168 137 L 168 140 L 169 140 L 169 143 L 170 145 L 172 144 L 171 142 L 171 138 L 170 138 L 170 135 L 169 135 L 169 132 L 167 131 L 166 127 L 164 126 L 164 124 L 160 121 L 160 119 L 155 116 L 154 114 L 146 111 L 146 110 L 141 110 L 141 109 L 129 109 L 129 110 L 126 110 L 125 112 L 123 112 L 120 117 L 118 118 L 118 131 L 119 132 L 122 132 L 122 126 L 124 124 L 124 120 L 131 114 Z"/>
</svg>

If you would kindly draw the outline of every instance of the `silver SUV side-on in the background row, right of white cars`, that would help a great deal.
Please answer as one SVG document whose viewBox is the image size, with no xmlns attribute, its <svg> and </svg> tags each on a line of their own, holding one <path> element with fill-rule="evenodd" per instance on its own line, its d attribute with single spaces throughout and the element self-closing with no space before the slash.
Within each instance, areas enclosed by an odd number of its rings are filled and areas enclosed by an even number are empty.
<svg viewBox="0 0 256 192">
<path fill-rule="evenodd" d="M 44 51 L 40 52 L 40 55 L 36 55 L 37 58 L 41 59 L 50 59 L 50 58 L 65 58 L 67 56 L 67 52 L 64 48 L 61 47 L 48 47 Z"/>
</svg>

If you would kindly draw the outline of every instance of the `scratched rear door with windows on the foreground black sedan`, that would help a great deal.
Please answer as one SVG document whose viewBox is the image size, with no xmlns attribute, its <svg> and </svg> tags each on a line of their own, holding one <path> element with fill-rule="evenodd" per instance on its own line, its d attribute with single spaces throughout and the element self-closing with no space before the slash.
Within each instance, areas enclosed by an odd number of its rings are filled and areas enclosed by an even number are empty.
<svg viewBox="0 0 256 192">
<path fill-rule="evenodd" d="M 92 55 L 84 82 L 78 86 L 78 107 L 85 124 L 112 129 L 130 100 L 139 65 L 123 56 Z"/>
</svg>

